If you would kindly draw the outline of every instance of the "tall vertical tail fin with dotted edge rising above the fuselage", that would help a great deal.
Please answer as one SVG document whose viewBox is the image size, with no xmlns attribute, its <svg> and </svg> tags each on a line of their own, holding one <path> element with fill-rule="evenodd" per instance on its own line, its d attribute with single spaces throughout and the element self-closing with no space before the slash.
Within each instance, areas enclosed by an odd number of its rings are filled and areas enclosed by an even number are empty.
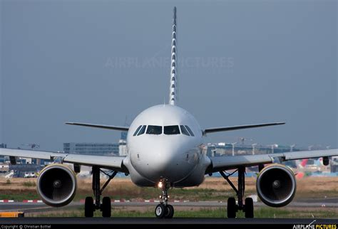
<svg viewBox="0 0 338 229">
<path fill-rule="evenodd" d="M 171 34 L 171 66 L 170 66 L 170 95 L 169 95 L 169 104 L 175 105 L 177 100 L 177 35 L 176 35 L 176 6 L 173 11 L 173 32 Z"/>
</svg>

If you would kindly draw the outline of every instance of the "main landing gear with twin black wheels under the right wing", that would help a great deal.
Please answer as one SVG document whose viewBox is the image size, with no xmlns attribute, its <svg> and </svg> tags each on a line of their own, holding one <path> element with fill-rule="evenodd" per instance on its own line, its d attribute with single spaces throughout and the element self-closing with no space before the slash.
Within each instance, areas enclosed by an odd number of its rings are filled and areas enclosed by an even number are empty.
<svg viewBox="0 0 338 229">
<path fill-rule="evenodd" d="M 238 172 L 238 189 L 230 181 L 229 176 Z M 245 198 L 245 203 L 243 203 L 243 196 L 245 191 L 245 167 L 240 167 L 234 171 L 232 174 L 225 175 L 223 171 L 220 171 L 220 175 L 230 184 L 230 186 L 235 190 L 238 198 L 238 204 L 236 204 L 235 198 L 230 197 L 227 199 L 227 218 L 236 218 L 237 211 L 244 211 L 245 218 L 253 218 L 253 201 L 252 198 Z"/>
</svg>

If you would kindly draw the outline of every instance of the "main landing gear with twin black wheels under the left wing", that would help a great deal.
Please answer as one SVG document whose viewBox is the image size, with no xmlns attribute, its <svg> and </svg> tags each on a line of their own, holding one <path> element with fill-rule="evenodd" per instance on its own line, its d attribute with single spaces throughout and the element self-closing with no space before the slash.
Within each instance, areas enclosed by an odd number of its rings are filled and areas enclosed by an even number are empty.
<svg viewBox="0 0 338 229">
<path fill-rule="evenodd" d="M 108 196 L 103 197 L 102 203 L 100 201 L 102 192 L 104 188 L 108 185 L 111 179 L 116 176 L 117 171 L 113 171 L 113 174 L 106 174 L 104 171 L 103 174 L 109 176 L 109 179 L 104 183 L 102 188 L 100 188 L 100 171 L 101 169 L 98 166 L 93 166 L 92 174 L 93 174 L 93 193 L 95 196 L 95 203 L 93 201 L 93 197 L 87 196 L 85 201 L 85 217 L 93 217 L 94 211 L 100 209 L 102 211 L 103 217 L 111 217 L 111 198 Z"/>
</svg>

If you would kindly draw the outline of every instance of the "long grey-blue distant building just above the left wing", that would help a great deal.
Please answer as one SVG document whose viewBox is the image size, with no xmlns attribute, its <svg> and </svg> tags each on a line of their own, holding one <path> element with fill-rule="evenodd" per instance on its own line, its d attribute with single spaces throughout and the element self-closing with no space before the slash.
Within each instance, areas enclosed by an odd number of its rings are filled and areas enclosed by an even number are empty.
<svg viewBox="0 0 338 229">
<path fill-rule="evenodd" d="M 63 151 L 66 154 L 118 155 L 118 148 L 118 143 L 63 143 Z"/>
</svg>

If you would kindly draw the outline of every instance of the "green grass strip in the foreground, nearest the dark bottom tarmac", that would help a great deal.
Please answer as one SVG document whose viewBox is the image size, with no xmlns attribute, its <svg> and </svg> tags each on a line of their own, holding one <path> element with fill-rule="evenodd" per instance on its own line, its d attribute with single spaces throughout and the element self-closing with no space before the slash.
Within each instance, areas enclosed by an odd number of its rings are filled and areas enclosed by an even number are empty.
<svg viewBox="0 0 338 229">
<path fill-rule="evenodd" d="M 337 218 L 336 208 L 268 208 L 255 209 L 255 218 Z M 83 217 L 83 208 L 71 211 L 57 211 L 53 213 L 27 213 L 27 216 L 38 217 Z M 200 209 L 175 209 L 176 218 L 226 218 L 225 208 L 200 208 Z M 101 217 L 101 212 L 96 211 L 94 217 Z M 121 208 L 113 208 L 112 217 L 154 217 L 152 210 L 137 211 Z M 244 218 L 242 212 L 237 213 L 237 218 Z"/>
</svg>

